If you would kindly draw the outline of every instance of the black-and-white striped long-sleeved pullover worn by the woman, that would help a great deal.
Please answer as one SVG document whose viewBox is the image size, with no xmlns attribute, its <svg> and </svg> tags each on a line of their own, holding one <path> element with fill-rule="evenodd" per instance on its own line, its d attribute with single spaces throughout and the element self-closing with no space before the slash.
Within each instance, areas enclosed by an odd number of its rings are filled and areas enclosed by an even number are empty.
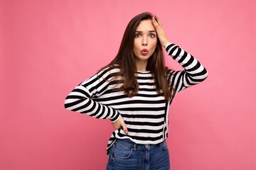
<svg viewBox="0 0 256 170">
<path fill-rule="evenodd" d="M 166 52 L 184 68 L 183 71 L 169 69 L 174 96 L 208 76 L 203 65 L 178 45 L 170 43 Z M 163 142 L 168 136 L 168 113 L 172 99 L 166 102 L 164 96 L 158 94 L 151 72 L 136 73 L 139 83 L 137 95 L 129 98 L 124 91 L 114 91 L 122 86 L 117 84 L 121 77 L 113 79 L 117 72 L 117 67 L 109 67 L 83 81 L 65 98 L 65 108 L 112 122 L 122 115 L 129 134 L 125 134 L 122 128 L 114 130 L 107 144 L 107 154 L 117 138 L 129 139 L 137 144 Z"/>
</svg>

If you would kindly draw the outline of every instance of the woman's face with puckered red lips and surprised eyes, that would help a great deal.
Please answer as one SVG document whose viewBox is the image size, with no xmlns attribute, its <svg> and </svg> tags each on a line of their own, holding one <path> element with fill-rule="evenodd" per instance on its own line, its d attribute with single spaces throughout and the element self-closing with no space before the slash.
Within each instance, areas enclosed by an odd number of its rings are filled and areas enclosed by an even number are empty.
<svg viewBox="0 0 256 170">
<path fill-rule="evenodd" d="M 134 37 L 133 52 L 136 62 L 147 62 L 156 49 L 156 30 L 151 20 L 139 23 Z"/>
</svg>

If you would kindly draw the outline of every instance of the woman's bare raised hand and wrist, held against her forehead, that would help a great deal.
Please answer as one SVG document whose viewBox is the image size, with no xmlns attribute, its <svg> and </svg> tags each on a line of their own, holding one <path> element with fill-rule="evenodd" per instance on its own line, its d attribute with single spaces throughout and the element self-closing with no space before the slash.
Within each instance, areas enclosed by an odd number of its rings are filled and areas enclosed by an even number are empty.
<svg viewBox="0 0 256 170">
<path fill-rule="evenodd" d="M 171 41 L 167 38 L 166 34 L 164 33 L 164 29 L 159 20 L 159 16 L 154 16 L 152 18 L 152 23 L 154 28 L 156 28 L 156 34 L 160 40 L 161 46 L 166 47 L 166 45 L 168 45 Z"/>
</svg>

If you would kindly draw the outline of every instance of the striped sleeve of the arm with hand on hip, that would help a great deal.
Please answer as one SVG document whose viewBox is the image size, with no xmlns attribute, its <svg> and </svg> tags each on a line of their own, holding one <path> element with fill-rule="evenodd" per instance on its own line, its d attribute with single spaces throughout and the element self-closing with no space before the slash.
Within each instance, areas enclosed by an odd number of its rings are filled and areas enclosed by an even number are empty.
<svg viewBox="0 0 256 170">
<path fill-rule="evenodd" d="M 65 108 L 78 113 L 85 113 L 93 118 L 110 119 L 112 122 L 119 118 L 119 113 L 110 106 L 94 101 L 105 93 L 111 86 L 112 74 L 117 69 L 104 69 L 75 87 L 65 98 Z"/>
</svg>

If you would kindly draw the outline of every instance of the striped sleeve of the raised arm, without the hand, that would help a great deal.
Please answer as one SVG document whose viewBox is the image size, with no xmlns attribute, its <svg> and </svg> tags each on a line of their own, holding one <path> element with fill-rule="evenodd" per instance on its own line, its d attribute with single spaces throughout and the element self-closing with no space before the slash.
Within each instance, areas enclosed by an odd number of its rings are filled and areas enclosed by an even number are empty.
<svg viewBox="0 0 256 170">
<path fill-rule="evenodd" d="M 195 57 L 184 51 L 173 43 L 166 46 L 168 55 L 171 55 L 184 68 L 183 71 L 171 70 L 173 75 L 171 86 L 174 86 L 176 93 L 195 84 L 199 84 L 208 77 L 208 72 Z"/>
</svg>

